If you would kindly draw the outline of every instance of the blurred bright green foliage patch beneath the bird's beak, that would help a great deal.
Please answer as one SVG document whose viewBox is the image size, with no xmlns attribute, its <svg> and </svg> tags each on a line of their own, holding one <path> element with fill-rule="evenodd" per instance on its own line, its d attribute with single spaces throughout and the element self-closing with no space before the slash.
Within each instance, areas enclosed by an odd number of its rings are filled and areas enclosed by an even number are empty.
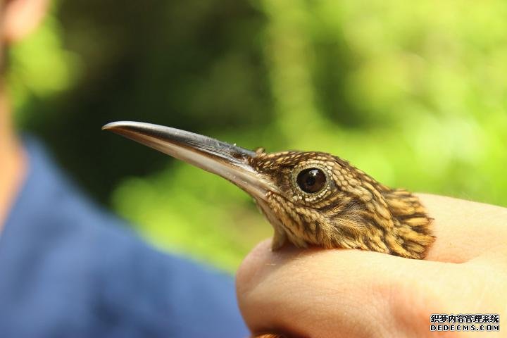
<svg viewBox="0 0 507 338">
<path fill-rule="evenodd" d="M 269 234 L 249 196 L 183 164 L 148 179 L 125 180 L 113 194 L 113 205 L 158 246 L 225 269 L 236 267 Z"/>
</svg>

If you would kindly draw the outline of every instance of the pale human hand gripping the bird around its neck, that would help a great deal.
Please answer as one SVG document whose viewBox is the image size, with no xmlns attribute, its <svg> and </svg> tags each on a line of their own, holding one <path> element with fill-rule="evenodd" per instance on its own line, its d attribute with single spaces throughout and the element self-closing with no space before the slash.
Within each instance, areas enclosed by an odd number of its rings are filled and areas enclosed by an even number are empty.
<svg viewBox="0 0 507 338">
<path fill-rule="evenodd" d="M 437 237 L 424 261 L 344 249 L 273 252 L 270 241 L 259 244 L 237 273 L 250 330 L 287 337 L 500 337 L 507 330 L 507 209 L 418 196 Z M 432 313 L 496 313 L 501 331 L 430 332 Z"/>
</svg>

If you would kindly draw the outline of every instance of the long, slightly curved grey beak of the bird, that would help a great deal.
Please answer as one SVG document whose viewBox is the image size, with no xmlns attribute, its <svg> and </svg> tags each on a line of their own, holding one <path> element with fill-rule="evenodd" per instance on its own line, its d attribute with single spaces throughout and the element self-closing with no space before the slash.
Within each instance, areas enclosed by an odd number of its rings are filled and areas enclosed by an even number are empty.
<svg viewBox="0 0 507 338">
<path fill-rule="evenodd" d="M 251 166 L 251 160 L 256 157 L 254 151 L 193 132 L 151 123 L 113 122 L 104 125 L 102 130 L 110 130 L 224 177 L 256 199 L 263 200 L 266 192 L 275 190 L 273 184 Z"/>
</svg>

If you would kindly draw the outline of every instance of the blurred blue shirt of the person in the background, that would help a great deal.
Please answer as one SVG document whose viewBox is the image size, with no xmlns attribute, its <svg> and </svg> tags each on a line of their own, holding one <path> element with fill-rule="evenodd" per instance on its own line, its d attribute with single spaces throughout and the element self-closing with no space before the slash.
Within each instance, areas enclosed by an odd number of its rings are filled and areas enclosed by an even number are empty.
<svg viewBox="0 0 507 338">
<path fill-rule="evenodd" d="M 0 337 L 246 337 L 228 275 L 152 249 L 42 146 L 0 233 Z"/>
</svg>

